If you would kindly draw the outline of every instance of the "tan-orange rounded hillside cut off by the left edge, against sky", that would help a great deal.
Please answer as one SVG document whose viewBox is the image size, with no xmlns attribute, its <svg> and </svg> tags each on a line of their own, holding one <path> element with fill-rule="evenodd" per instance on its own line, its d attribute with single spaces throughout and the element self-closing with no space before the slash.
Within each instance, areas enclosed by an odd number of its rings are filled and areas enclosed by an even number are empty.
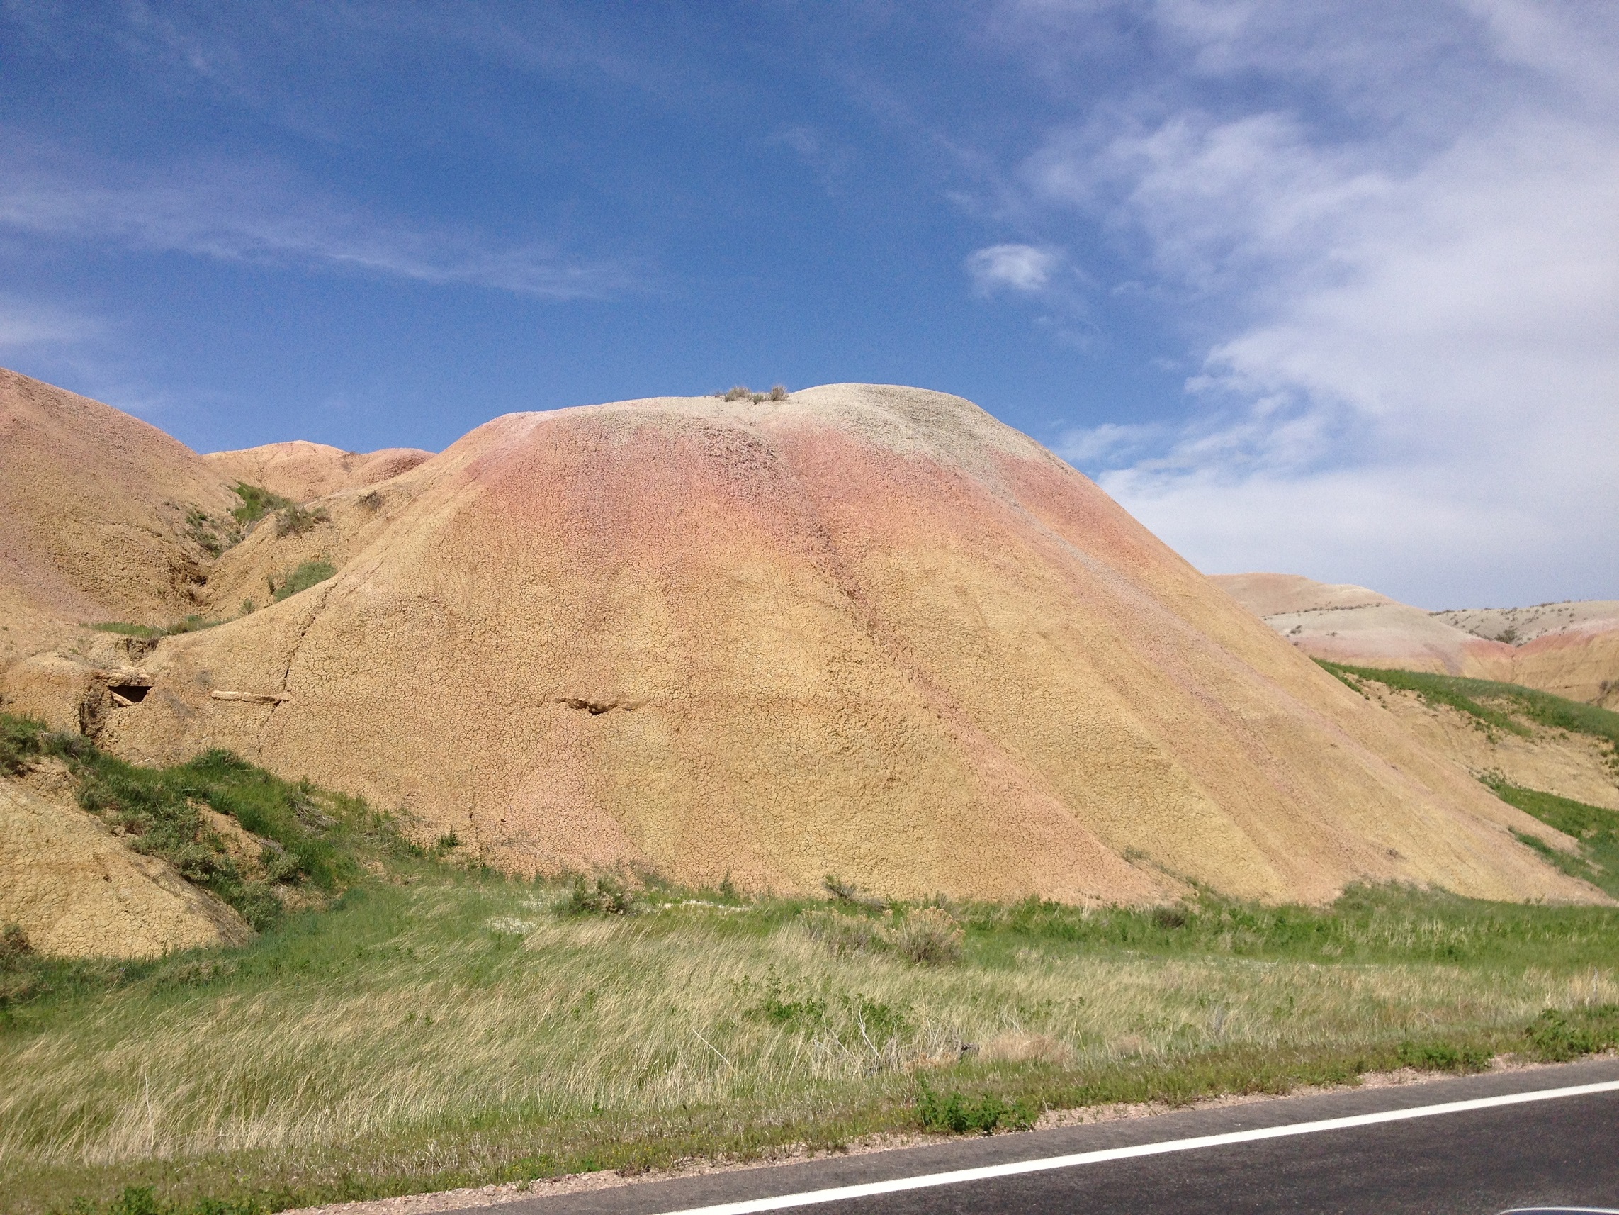
<svg viewBox="0 0 1619 1215">
<path fill-rule="evenodd" d="M 235 504 L 185 444 L 0 368 L 0 611 L 28 630 L 19 648 L 63 622 L 167 624 L 196 611 L 202 539 Z"/>
</svg>

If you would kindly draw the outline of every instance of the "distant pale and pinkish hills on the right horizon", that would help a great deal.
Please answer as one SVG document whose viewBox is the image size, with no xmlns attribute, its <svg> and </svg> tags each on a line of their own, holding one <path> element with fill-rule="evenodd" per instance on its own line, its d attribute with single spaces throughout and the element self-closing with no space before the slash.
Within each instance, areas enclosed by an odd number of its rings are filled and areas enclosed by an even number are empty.
<svg viewBox="0 0 1619 1215">
<path fill-rule="evenodd" d="M 1294 573 L 1213 582 L 1313 658 L 1496 679 L 1619 706 L 1619 601 L 1426 612 L 1365 586 Z"/>
</svg>

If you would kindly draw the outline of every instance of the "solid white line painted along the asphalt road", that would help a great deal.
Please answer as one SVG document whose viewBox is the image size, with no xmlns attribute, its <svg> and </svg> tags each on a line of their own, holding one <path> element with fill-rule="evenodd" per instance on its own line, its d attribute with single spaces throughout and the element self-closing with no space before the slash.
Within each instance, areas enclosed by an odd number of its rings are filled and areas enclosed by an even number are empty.
<svg viewBox="0 0 1619 1215">
<path fill-rule="evenodd" d="M 869 1181 L 863 1186 L 837 1186 L 834 1189 L 811 1189 L 801 1194 L 779 1194 L 774 1199 L 748 1199 L 746 1202 L 720 1202 L 714 1207 L 691 1207 L 665 1215 L 754 1215 L 764 1210 L 787 1210 L 790 1207 L 814 1207 L 822 1202 L 843 1202 L 845 1199 L 869 1199 L 877 1194 L 899 1194 L 907 1189 L 929 1189 L 933 1186 L 958 1186 L 963 1181 L 988 1181 L 989 1178 L 1015 1178 L 1022 1173 L 1046 1173 L 1052 1168 L 1073 1168 L 1075 1165 L 1101 1165 L 1107 1160 L 1130 1160 L 1132 1157 L 1156 1157 L 1166 1152 L 1196 1152 L 1203 1147 L 1226 1147 L 1227 1144 L 1251 1144 L 1260 1139 L 1284 1139 L 1285 1136 L 1308 1136 L 1318 1131 L 1347 1131 L 1355 1126 L 1376 1126 L 1378 1123 L 1402 1123 L 1407 1118 L 1433 1118 L 1446 1113 L 1467 1113 L 1468 1110 L 1494 1110 L 1502 1105 L 1523 1105 L 1527 1102 L 1554 1102 L 1559 1097 L 1588 1097 L 1598 1092 L 1619 1090 L 1619 1081 L 1601 1084 L 1577 1084 L 1570 1089 L 1541 1089 L 1538 1092 L 1515 1092 L 1504 1097 L 1475 1097 L 1470 1102 L 1447 1102 L 1444 1105 L 1418 1105 L 1412 1110 L 1383 1110 L 1381 1113 L 1352 1115 L 1350 1118 L 1324 1118 L 1319 1123 L 1292 1123 L 1289 1126 L 1263 1126 L 1253 1131 L 1227 1131 L 1219 1136 L 1198 1136 L 1195 1139 L 1171 1139 L 1161 1144 L 1137 1144 L 1135 1147 L 1109 1147 L 1101 1152 L 1077 1152 L 1067 1157 L 1044 1157 L 1041 1160 L 1015 1160 L 1007 1165 L 984 1165 L 981 1168 L 958 1168 L 950 1173 L 924 1173 L 913 1178 L 894 1178 L 892 1181 Z"/>
</svg>

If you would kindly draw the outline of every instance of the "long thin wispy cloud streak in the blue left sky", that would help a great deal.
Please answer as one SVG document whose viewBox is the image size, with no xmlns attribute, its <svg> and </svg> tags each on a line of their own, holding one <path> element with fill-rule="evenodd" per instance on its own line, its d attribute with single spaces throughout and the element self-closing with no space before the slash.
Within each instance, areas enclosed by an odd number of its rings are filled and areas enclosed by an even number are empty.
<svg viewBox="0 0 1619 1215">
<path fill-rule="evenodd" d="M 568 256 L 544 243 L 502 245 L 466 228 L 379 215 L 275 165 L 215 162 L 134 173 L 0 151 L 0 228 L 550 300 L 604 298 L 640 285 L 635 267 L 622 261 Z"/>
</svg>

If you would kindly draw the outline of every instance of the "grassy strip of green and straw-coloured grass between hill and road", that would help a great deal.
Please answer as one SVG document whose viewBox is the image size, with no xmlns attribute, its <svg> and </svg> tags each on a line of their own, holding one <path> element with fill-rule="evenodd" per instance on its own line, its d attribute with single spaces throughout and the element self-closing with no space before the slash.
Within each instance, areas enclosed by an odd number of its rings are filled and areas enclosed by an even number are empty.
<svg viewBox="0 0 1619 1215">
<path fill-rule="evenodd" d="M 355 857 L 332 902 L 246 948 L 5 962 L 32 974 L 0 1017 L 8 1210 L 131 1184 L 272 1209 L 831 1145 L 949 1123 L 955 1092 L 1185 1100 L 1619 1040 L 1616 909 L 963 906 L 962 959 L 916 966 L 858 948 L 874 909 L 576 915 L 567 886 L 325 838 Z"/>
</svg>

